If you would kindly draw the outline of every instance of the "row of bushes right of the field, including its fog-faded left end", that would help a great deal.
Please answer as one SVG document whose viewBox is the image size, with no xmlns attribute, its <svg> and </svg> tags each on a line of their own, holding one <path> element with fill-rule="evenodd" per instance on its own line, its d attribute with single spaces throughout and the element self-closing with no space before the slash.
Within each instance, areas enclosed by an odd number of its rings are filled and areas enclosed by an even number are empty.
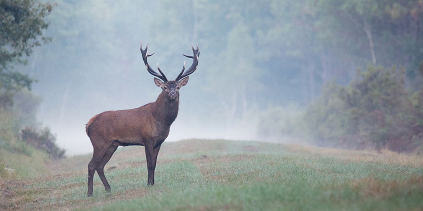
<svg viewBox="0 0 423 211">
<path fill-rule="evenodd" d="M 404 68 L 368 65 L 345 87 L 335 81 L 324 84 L 321 95 L 300 114 L 269 111 L 260 133 L 302 137 L 319 146 L 423 153 L 423 62 L 416 74 L 420 85 L 412 89 Z"/>
</svg>

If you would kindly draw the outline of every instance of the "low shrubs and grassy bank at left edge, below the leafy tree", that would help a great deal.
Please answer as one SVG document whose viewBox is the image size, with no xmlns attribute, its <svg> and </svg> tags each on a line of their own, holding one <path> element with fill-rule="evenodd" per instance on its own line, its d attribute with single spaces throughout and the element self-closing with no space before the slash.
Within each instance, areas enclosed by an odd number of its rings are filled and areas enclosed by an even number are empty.
<svg viewBox="0 0 423 211">
<path fill-rule="evenodd" d="M 1 178 L 39 176 L 47 171 L 46 159 L 64 157 L 65 150 L 55 145 L 55 135 L 49 128 L 37 129 L 35 114 L 39 103 L 39 97 L 22 89 L 13 103 L 0 106 Z"/>
</svg>

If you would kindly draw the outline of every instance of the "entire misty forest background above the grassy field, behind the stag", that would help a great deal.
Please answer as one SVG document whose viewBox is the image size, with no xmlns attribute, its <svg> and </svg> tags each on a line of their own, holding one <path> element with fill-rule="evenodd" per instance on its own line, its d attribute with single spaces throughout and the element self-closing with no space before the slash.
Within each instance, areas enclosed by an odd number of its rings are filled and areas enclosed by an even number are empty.
<svg viewBox="0 0 423 211">
<path fill-rule="evenodd" d="M 56 155 L 91 152 L 92 116 L 153 102 L 160 90 L 141 42 L 170 78 L 190 45 L 201 51 L 169 141 L 423 149 L 423 0 L 0 2 L 44 8 L 48 26 L 16 60 L 4 56 L 16 46 L 1 30 L 0 147 L 9 151 L 27 151 L 19 140 L 39 133 L 57 139 Z M 19 80 L 30 83 L 9 86 Z"/>
</svg>

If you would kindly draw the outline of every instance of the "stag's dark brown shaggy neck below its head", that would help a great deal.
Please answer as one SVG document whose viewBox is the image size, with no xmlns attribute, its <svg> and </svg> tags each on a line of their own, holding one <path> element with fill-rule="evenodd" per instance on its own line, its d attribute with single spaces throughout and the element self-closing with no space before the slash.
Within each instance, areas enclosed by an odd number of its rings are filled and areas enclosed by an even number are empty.
<svg viewBox="0 0 423 211">
<path fill-rule="evenodd" d="M 153 116 L 158 122 L 170 126 L 178 116 L 179 96 L 175 100 L 169 101 L 162 92 L 151 108 Z"/>
</svg>

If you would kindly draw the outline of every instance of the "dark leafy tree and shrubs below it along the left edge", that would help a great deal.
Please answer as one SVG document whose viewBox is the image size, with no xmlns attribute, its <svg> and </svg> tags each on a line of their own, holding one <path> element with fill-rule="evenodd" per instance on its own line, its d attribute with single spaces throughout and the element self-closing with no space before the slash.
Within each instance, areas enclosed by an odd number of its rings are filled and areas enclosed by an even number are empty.
<svg viewBox="0 0 423 211">
<path fill-rule="evenodd" d="M 41 150 L 52 159 L 64 157 L 55 135 L 47 127 L 39 129 L 36 111 L 41 98 L 30 91 L 36 80 L 16 68 L 27 65 L 34 47 L 51 41 L 43 31 L 52 8 L 34 0 L 0 1 L 0 176 L 5 168 L 16 168 L 11 153 L 31 157 Z"/>
</svg>

